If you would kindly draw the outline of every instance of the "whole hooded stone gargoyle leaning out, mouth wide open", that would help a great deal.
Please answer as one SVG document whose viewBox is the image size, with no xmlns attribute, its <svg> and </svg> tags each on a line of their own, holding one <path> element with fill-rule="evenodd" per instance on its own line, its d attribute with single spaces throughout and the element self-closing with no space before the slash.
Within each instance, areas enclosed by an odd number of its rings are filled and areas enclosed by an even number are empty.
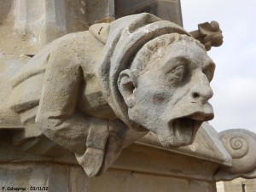
<svg viewBox="0 0 256 192">
<path fill-rule="evenodd" d="M 214 69 L 203 44 L 150 14 L 68 34 L 12 77 L 9 108 L 25 130 L 13 143 L 38 153 L 53 142 L 73 152 L 89 177 L 148 131 L 166 148 L 188 145 L 213 118 Z"/>
</svg>

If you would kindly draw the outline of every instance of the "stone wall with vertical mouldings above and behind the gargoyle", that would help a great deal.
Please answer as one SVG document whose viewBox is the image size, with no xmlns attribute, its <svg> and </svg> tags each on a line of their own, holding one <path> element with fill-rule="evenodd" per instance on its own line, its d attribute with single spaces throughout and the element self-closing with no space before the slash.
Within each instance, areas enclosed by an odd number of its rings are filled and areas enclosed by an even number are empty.
<svg viewBox="0 0 256 192">
<path fill-rule="evenodd" d="M 180 2 L 1 0 L 0 53 L 35 55 L 45 44 L 101 21 L 148 12 L 182 26 Z"/>
</svg>

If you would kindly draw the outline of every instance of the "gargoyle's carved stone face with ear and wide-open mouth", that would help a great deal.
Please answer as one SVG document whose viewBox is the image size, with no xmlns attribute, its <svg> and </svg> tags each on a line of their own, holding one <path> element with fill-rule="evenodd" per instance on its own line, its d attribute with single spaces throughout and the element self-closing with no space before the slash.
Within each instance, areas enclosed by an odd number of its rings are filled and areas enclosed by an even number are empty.
<svg viewBox="0 0 256 192">
<path fill-rule="evenodd" d="M 215 65 L 195 41 L 154 46 L 159 48 L 148 46 L 154 53 L 146 67 L 120 74 L 119 90 L 130 119 L 153 131 L 163 146 L 188 145 L 201 123 L 213 118 L 208 100 Z"/>
</svg>

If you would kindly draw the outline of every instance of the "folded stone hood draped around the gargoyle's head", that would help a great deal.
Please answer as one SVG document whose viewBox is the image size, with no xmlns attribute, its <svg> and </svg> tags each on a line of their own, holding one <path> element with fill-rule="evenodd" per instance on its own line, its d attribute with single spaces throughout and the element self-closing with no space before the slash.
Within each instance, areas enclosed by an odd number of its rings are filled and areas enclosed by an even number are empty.
<svg viewBox="0 0 256 192">
<path fill-rule="evenodd" d="M 99 31 L 96 28 L 99 28 Z M 90 32 L 104 42 L 106 35 L 100 35 L 104 26 L 98 24 L 90 27 Z M 108 39 L 103 50 L 102 62 L 98 70 L 98 78 L 102 85 L 103 95 L 114 113 L 126 125 L 140 131 L 138 125 L 131 122 L 127 107 L 119 93 L 117 81 L 119 73 L 131 66 L 131 58 L 148 41 L 163 34 L 177 32 L 190 36 L 181 26 L 167 20 L 160 20 L 147 13 L 125 16 L 113 21 L 108 28 Z M 106 34 L 106 33 L 105 33 Z"/>
</svg>

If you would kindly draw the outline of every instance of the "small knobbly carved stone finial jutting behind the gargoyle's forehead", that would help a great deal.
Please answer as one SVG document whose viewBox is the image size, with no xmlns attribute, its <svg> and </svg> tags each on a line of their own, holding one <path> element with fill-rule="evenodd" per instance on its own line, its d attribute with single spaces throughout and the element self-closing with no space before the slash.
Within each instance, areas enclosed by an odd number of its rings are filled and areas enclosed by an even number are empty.
<svg viewBox="0 0 256 192">
<path fill-rule="evenodd" d="M 219 28 L 217 21 L 211 23 L 205 22 L 198 25 L 198 30 L 189 32 L 201 44 L 205 45 L 207 50 L 213 47 L 218 47 L 223 44 L 222 31 Z"/>
</svg>

